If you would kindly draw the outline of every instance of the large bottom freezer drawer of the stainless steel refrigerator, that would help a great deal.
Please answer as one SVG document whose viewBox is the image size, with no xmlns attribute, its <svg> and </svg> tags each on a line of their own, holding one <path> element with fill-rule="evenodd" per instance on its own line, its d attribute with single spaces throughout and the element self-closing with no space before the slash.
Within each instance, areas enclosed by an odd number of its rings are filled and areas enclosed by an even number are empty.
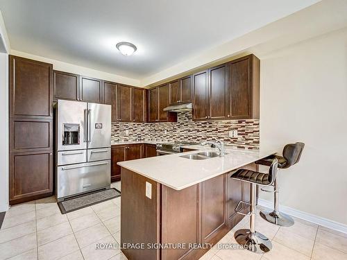
<svg viewBox="0 0 347 260">
<path fill-rule="evenodd" d="M 110 188 L 110 160 L 58 166 L 57 198 Z"/>
</svg>

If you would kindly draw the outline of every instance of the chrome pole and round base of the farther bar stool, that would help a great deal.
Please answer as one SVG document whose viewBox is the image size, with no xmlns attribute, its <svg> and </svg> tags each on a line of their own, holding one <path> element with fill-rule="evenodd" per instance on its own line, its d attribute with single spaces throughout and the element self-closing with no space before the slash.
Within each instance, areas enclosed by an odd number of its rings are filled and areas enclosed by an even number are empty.
<svg viewBox="0 0 347 260">
<path fill-rule="evenodd" d="M 268 221 L 269 223 L 273 223 L 281 227 L 290 227 L 294 225 L 294 219 L 291 218 L 291 216 L 281 213 L 278 210 L 278 194 L 280 193 L 279 184 L 278 184 L 278 173 L 276 174 L 274 185 L 275 185 L 275 191 L 274 191 L 274 199 L 273 199 L 273 211 L 262 210 L 260 211 L 260 216 L 264 218 L 264 220 Z"/>
</svg>

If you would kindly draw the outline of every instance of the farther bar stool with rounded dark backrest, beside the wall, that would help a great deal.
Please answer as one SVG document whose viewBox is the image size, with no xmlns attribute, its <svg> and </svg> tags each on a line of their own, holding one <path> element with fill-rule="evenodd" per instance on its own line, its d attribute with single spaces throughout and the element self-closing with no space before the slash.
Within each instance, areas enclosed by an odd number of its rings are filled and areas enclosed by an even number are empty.
<svg viewBox="0 0 347 260">
<path fill-rule="evenodd" d="M 270 166 L 273 159 L 277 159 L 278 169 L 289 168 L 290 166 L 293 166 L 294 164 L 299 162 L 301 153 L 303 153 L 304 146 L 305 144 L 300 142 L 295 144 L 287 144 L 285 148 L 283 148 L 282 157 L 271 155 L 270 157 L 266 157 L 255 162 L 255 164 Z M 273 184 L 273 191 L 267 191 L 266 189 L 262 189 L 262 191 L 273 192 L 273 210 L 260 211 L 260 216 L 269 223 L 273 223 L 281 227 L 290 227 L 291 225 L 294 225 L 293 218 L 278 210 L 278 195 L 280 193 L 278 184 L 278 171 L 276 174 L 277 175 L 275 177 L 275 182 Z"/>
</svg>

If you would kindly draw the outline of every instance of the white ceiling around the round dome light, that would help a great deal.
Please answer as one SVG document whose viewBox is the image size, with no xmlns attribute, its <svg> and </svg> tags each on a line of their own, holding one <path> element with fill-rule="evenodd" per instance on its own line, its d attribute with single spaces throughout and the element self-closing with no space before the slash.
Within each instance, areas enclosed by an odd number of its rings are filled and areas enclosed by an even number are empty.
<svg viewBox="0 0 347 260">
<path fill-rule="evenodd" d="M 142 79 L 318 1 L 0 0 L 0 10 L 11 49 Z"/>
</svg>

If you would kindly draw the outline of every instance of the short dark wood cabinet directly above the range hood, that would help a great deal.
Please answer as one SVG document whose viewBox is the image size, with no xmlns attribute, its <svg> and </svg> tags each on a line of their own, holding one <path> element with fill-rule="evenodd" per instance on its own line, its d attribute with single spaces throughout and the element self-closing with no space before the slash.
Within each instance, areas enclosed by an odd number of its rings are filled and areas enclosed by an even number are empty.
<svg viewBox="0 0 347 260">
<path fill-rule="evenodd" d="M 192 77 L 187 76 L 169 83 L 170 105 L 188 103 L 192 100 Z"/>
</svg>

